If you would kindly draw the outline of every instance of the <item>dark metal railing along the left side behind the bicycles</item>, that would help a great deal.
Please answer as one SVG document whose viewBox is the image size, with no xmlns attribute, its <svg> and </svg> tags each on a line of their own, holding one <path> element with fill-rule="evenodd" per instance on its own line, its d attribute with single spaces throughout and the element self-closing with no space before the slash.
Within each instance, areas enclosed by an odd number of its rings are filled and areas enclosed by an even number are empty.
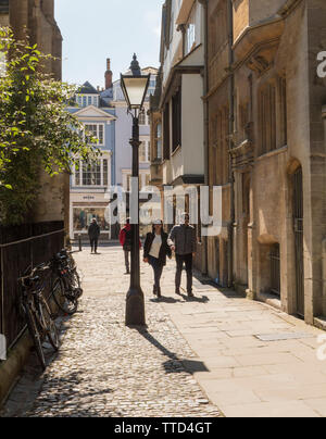
<svg viewBox="0 0 326 439">
<path fill-rule="evenodd" d="M 25 329 L 17 279 L 64 247 L 63 222 L 0 227 L 0 334 L 12 348 Z"/>
</svg>

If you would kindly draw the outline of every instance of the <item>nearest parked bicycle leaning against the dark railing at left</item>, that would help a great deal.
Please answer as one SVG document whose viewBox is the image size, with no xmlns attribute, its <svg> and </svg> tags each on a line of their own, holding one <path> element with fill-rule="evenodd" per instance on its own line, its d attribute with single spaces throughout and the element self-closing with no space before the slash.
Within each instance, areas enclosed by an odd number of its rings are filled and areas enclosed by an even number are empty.
<svg viewBox="0 0 326 439">
<path fill-rule="evenodd" d="M 46 338 L 48 338 L 54 351 L 58 351 L 60 347 L 54 316 L 43 296 L 46 284 L 42 284 L 41 277 L 37 275 L 37 273 L 46 272 L 49 268 L 48 265 L 41 264 L 33 269 L 29 275 L 18 279 L 22 286 L 22 308 L 37 356 L 43 369 L 46 369 L 43 351 Z"/>
</svg>

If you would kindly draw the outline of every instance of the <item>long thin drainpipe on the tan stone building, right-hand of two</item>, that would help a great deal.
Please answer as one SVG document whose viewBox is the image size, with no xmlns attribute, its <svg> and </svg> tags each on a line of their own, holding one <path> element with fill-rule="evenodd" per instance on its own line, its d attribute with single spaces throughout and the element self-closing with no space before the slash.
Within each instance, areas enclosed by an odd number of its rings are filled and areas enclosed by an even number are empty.
<svg viewBox="0 0 326 439">
<path fill-rule="evenodd" d="M 228 0 L 228 66 L 229 66 L 229 176 L 230 176 L 230 224 L 228 227 L 228 287 L 234 286 L 234 224 L 236 218 L 235 211 L 235 174 L 233 171 L 233 156 L 231 150 L 234 148 L 234 123 L 235 123 L 235 74 L 234 74 L 234 14 L 233 14 L 233 0 Z"/>
</svg>

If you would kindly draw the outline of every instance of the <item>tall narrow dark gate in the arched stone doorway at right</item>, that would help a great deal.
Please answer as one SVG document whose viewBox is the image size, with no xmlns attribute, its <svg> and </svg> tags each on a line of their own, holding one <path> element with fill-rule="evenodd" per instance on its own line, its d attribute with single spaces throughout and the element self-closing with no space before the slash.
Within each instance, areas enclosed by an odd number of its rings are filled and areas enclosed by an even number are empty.
<svg viewBox="0 0 326 439">
<path fill-rule="evenodd" d="M 304 317 L 302 167 L 299 167 L 293 175 L 293 227 L 296 240 L 297 313 Z"/>
</svg>

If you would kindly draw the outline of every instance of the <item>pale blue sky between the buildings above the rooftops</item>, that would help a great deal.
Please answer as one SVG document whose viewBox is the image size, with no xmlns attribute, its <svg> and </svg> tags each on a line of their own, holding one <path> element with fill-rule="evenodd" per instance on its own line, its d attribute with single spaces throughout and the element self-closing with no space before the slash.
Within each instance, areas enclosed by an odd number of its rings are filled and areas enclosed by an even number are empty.
<svg viewBox="0 0 326 439">
<path fill-rule="evenodd" d="M 63 80 L 104 87 L 106 58 L 113 80 L 134 52 L 141 67 L 159 67 L 163 0 L 55 0 L 63 36 Z"/>
</svg>

